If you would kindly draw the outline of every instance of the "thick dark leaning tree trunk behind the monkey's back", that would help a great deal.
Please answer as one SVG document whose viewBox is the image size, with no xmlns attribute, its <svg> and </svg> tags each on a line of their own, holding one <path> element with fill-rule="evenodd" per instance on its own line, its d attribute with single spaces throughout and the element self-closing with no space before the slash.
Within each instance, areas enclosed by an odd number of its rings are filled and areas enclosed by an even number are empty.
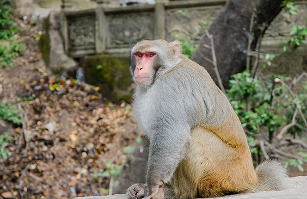
<svg viewBox="0 0 307 199">
<path fill-rule="evenodd" d="M 224 87 L 229 87 L 231 75 L 243 72 L 246 69 L 247 48 L 250 35 L 251 18 L 254 12 L 253 41 L 251 50 L 254 50 L 261 31 L 266 30 L 273 18 L 281 10 L 283 0 L 229 0 L 220 15 L 213 21 L 209 33 L 213 35 L 217 67 Z M 191 59 L 208 71 L 217 83 L 213 65 L 204 59 L 212 59 L 210 39 L 205 36 L 198 50 Z M 201 54 L 201 55 L 200 55 Z M 220 86 L 220 85 L 218 85 Z"/>
</svg>

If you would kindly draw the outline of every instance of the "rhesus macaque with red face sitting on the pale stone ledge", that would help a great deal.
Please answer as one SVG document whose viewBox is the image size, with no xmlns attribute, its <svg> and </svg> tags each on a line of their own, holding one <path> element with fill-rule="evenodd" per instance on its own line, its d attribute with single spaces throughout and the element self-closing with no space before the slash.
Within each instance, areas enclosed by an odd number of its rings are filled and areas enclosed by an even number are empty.
<svg viewBox="0 0 307 199">
<path fill-rule="evenodd" d="M 287 174 L 275 161 L 253 168 L 242 125 L 226 96 L 180 44 L 141 41 L 131 50 L 134 111 L 150 140 L 147 184 L 130 199 L 196 198 L 280 190 Z"/>
</svg>

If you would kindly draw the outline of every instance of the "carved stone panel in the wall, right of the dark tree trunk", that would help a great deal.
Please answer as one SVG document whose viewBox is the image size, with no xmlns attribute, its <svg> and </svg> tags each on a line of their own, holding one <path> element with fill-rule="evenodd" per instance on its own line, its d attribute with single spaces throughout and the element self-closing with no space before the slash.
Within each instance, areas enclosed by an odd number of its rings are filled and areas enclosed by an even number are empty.
<svg viewBox="0 0 307 199">
<path fill-rule="evenodd" d="M 299 4 L 299 11 L 297 15 L 291 15 L 290 18 L 286 18 L 284 14 L 286 11 L 283 9 L 272 21 L 269 28 L 264 35 L 264 40 L 277 39 L 277 37 L 289 37 L 290 30 L 294 25 L 307 26 L 307 4 Z"/>
</svg>

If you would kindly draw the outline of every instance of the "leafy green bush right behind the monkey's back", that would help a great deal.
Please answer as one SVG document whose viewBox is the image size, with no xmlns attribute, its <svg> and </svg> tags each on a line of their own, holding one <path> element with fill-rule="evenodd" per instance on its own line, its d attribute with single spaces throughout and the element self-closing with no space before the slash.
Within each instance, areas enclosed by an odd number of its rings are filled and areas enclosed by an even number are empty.
<svg viewBox="0 0 307 199">
<path fill-rule="evenodd" d="M 304 116 L 307 115 L 307 86 L 303 86 L 303 91 L 298 95 L 289 92 L 279 99 L 286 88 L 276 84 L 274 80 L 289 81 L 290 78 L 272 74 L 272 80 L 258 80 L 252 78 L 247 71 L 232 77 L 233 79 L 229 81 L 230 89 L 227 90 L 227 96 L 245 132 L 248 132 L 249 145 L 253 144 L 254 137 L 260 132 L 266 132 L 269 135 L 269 142 L 272 143 L 277 130 L 291 123 L 296 108 L 299 108 Z M 301 117 L 297 117 L 296 122 L 300 126 L 305 126 Z M 303 130 L 294 125 L 287 132 L 295 137 L 302 136 Z M 250 149 L 252 153 L 261 153 L 257 147 L 250 147 Z M 307 158 L 307 154 L 299 154 Z M 303 162 L 300 159 L 287 160 L 284 164 L 285 167 L 291 165 L 303 171 Z"/>
</svg>

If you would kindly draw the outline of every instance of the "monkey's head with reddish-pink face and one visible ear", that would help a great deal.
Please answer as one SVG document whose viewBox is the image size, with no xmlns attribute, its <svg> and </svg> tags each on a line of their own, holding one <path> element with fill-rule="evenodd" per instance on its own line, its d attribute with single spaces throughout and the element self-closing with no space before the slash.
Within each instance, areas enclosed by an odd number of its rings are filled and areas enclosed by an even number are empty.
<svg viewBox="0 0 307 199">
<path fill-rule="evenodd" d="M 174 67 L 180 60 L 181 47 L 178 41 L 144 40 L 131 49 L 130 72 L 133 80 L 148 87 L 155 78 Z"/>
</svg>

